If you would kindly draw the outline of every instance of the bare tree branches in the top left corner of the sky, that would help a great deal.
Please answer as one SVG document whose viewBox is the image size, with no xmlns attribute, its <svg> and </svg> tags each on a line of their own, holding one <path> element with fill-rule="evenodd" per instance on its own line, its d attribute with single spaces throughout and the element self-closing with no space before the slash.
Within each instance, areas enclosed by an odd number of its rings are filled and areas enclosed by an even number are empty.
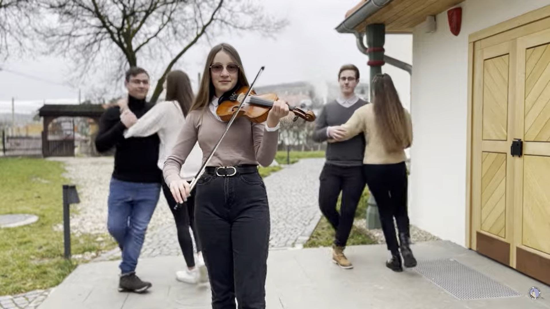
<svg viewBox="0 0 550 309">
<path fill-rule="evenodd" d="M 24 51 L 36 13 L 34 0 L 0 0 L 0 59 L 7 59 L 14 49 Z"/>
</svg>

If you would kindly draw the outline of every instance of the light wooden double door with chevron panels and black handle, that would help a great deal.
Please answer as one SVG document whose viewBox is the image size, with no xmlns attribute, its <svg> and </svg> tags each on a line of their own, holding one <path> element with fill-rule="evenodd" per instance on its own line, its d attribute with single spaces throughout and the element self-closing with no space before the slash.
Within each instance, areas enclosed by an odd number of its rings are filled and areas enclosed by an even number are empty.
<svg viewBox="0 0 550 309">
<path fill-rule="evenodd" d="M 550 18 L 474 42 L 470 61 L 471 248 L 550 284 Z"/>
</svg>

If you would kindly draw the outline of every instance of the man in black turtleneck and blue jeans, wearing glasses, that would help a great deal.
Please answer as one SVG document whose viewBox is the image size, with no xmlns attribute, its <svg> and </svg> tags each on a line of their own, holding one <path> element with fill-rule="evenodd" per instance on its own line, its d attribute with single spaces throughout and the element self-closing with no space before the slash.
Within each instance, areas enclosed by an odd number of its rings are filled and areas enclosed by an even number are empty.
<svg viewBox="0 0 550 309">
<path fill-rule="evenodd" d="M 152 284 L 142 281 L 135 268 L 161 191 L 162 170 L 157 167 L 160 139 L 157 134 L 124 139 L 124 131 L 152 107 L 145 101 L 149 74 L 138 67 L 126 72 L 128 108 L 108 108 L 101 116 L 96 137 L 98 152 L 113 147 L 114 170 L 108 196 L 107 229 L 122 250 L 119 291 L 142 293 Z"/>
</svg>

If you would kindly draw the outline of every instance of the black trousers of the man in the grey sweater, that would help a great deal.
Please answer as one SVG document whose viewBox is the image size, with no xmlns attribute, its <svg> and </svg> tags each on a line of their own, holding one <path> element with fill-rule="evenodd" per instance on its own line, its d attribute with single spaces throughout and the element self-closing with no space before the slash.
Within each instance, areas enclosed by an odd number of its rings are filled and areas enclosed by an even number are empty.
<svg viewBox="0 0 550 309">
<path fill-rule="evenodd" d="M 336 231 L 334 244 L 345 247 L 353 226 L 357 204 L 365 189 L 362 167 L 324 164 L 319 181 L 319 208 Z M 336 204 L 340 191 L 342 200 L 338 213 Z"/>
</svg>

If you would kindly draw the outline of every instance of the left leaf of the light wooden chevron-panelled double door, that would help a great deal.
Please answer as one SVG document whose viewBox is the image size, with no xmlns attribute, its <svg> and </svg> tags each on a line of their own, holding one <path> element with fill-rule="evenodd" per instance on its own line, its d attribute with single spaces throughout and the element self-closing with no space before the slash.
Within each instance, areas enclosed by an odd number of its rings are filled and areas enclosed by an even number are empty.
<svg viewBox="0 0 550 309">
<path fill-rule="evenodd" d="M 510 265 L 513 243 L 513 129 L 516 48 L 513 41 L 475 45 L 472 91 L 472 248 Z"/>
</svg>

